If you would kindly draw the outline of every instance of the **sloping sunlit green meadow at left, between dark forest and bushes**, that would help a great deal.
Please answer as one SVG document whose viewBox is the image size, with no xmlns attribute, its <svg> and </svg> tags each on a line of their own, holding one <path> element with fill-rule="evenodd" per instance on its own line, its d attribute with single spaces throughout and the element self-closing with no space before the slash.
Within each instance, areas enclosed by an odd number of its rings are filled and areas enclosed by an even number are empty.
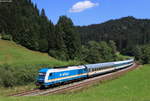
<svg viewBox="0 0 150 101">
<path fill-rule="evenodd" d="M 11 66 L 46 64 L 50 66 L 78 64 L 77 61 L 58 61 L 46 53 L 31 51 L 14 42 L 0 40 L 0 65 Z"/>
</svg>

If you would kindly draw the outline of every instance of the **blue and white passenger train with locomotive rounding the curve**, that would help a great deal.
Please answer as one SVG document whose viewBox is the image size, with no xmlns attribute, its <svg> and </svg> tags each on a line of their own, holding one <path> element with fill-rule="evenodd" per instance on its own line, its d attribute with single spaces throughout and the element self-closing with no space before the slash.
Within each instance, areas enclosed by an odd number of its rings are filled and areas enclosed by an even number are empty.
<svg viewBox="0 0 150 101">
<path fill-rule="evenodd" d="M 40 87 L 50 87 L 56 84 L 63 84 L 78 79 L 87 79 L 112 71 L 130 67 L 134 64 L 134 59 L 123 61 L 86 64 L 79 66 L 62 66 L 54 68 L 42 68 L 38 72 L 36 85 Z"/>
</svg>

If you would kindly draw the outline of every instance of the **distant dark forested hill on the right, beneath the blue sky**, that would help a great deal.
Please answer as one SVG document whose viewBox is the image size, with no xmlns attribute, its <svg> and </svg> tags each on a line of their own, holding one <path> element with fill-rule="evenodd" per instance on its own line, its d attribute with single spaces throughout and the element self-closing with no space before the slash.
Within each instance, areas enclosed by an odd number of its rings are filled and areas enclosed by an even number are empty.
<svg viewBox="0 0 150 101">
<path fill-rule="evenodd" d="M 77 27 L 82 44 L 91 40 L 97 42 L 113 40 L 118 51 L 131 55 L 136 45 L 150 43 L 150 20 L 135 19 L 132 16 L 110 20 L 102 24 Z"/>
</svg>

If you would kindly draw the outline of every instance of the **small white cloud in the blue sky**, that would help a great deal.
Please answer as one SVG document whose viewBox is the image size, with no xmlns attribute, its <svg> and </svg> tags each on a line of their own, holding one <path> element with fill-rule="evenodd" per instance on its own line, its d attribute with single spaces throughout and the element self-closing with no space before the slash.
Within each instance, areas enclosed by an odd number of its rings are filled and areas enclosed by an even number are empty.
<svg viewBox="0 0 150 101">
<path fill-rule="evenodd" d="M 82 12 L 88 8 L 92 8 L 92 7 L 95 7 L 98 5 L 99 5 L 99 3 L 93 3 L 91 1 L 80 1 L 80 2 L 77 2 L 76 4 L 74 4 L 72 6 L 72 8 L 70 8 L 69 12 L 71 12 L 71 13 Z"/>
</svg>

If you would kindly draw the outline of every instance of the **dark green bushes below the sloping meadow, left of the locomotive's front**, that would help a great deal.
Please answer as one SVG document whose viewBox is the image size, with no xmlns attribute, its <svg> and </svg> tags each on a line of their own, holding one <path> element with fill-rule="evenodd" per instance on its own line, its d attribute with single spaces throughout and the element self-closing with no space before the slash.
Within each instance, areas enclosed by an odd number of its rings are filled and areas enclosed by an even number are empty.
<svg viewBox="0 0 150 101">
<path fill-rule="evenodd" d="M 3 87 L 13 87 L 34 82 L 38 69 L 31 66 L 22 68 L 11 67 L 9 65 L 0 66 L 0 85 Z"/>
</svg>

